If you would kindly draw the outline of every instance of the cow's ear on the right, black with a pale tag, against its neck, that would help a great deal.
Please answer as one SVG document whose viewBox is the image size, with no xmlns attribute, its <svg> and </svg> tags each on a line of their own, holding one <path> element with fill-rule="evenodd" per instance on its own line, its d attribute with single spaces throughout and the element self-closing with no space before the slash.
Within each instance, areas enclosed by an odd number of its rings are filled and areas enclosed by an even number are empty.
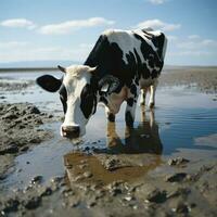
<svg viewBox="0 0 217 217">
<path fill-rule="evenodd" d="M 99 81 L 99 89 L 101 92 L 112 93 L 118 91 L 119 85 L 118 78 L 107 75 Z"/>
</svg>

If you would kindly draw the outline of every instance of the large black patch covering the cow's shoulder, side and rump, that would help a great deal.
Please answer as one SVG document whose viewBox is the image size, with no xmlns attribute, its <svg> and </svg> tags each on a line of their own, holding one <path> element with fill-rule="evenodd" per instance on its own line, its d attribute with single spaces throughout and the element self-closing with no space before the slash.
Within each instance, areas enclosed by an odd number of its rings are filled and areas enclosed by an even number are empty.
<svg viewBox="0 0 217 217">
<path fill-rule="evenodd" d="M 144 30 L 144 36 L 154 43 L 157 51 L 153 50 L 140 35 L 133 34 L 133 36 L 135 40 L 141 41 L 140 50 L 145 62 L 142 62 L 138 51 L 133 49 L 133 51 L 126 53 L 126 64 L 123 56 L 124 53 L 118 42 L 110 43 L 106 35 L 100 36 L 85 62 L 85 65 L 90 67 L 98 66 L 94 73 L 94 80 L 99 81 L 106 75 L 113 75 L 118 78 L 120 85 L 115 90 L 116 93 L 118 93 L 124 86 L 130 88 L 133 80 L 136 85 L 139 85 L 139 79 L 141 77 L 144 79 L 156 78 L 163 67 L 164 61 L 161 56 L 164 46 L 164 35 L 154 36 Z"/>
</svg>

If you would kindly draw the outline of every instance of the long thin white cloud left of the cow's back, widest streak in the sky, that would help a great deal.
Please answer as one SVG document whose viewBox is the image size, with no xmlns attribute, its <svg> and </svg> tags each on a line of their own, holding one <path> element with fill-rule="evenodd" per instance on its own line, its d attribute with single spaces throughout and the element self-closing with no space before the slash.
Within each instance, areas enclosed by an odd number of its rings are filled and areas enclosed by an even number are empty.
<svg viewBox="0 0 217 217">
<path fill-rule="evenodd" d="M 59 24 L 44 25 L 39 29 L 39 33 L 44 35 L 64 35 L 81 28 L 113 25 L 114 21 L 108 21 L 103 17 L 91 17 L 88 20 L 73 20 Z"/>
</svg>

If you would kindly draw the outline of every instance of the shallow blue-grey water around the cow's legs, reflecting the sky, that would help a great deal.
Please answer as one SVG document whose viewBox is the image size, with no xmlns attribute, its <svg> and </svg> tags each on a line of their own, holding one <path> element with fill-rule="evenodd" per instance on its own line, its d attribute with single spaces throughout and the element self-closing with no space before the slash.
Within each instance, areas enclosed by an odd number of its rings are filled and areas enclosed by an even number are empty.
<svg viewBox="0 0 217 217">
<path fill-rule="evenodd" d="M 14 76 L 10 74 L 10 76 L 31 80 L 39 74 L 14 74 Z M 37 86 L 22 93 L 0 92 L 5 97 L 1 101 L 31 102 L 43 111 L 62 114 L 58 94 L 41 91 Z M 22 188 L 36 175 L 43 176 L 44 181 L 53 176 L 63 176 L 66 170 L 64 162 L 76 164 L 76 154 L 71 154 L 76 150 L 85 153 L 93 152 L 95 155 L 119 154 L 132 159 L 135 157 L 138 165 L 142 165 L 143 174 L 157 169 L 166 157 L 177 153 L 188 155 L 190 158 L 212 159 L 217 156 L 217 101 L 214 101 L 214 98 L 215 95 L 187 90 L 184 87 L 158 88 L 156 108 L 150 111 L 138 106 L 133 129 L 125 127 L 125 103 L 115 125 L 106 124 L 104 108 L 99 106 L 79 145 L 73 145 L 71 141 L 61 138 L 59 130 L 61 123 L 44 125 L 43 128 L 54 132 L 54 138 L 17 156 L 15 170 L 4 180 L 4 186 Z M 88 157 L 84 154 L 81 158 Z M 130 173 L 124 171 L 125 175 L 126 173 L 130 177 Z M 114 180 L 114 176 L 110 179 Z"/>
</svg>

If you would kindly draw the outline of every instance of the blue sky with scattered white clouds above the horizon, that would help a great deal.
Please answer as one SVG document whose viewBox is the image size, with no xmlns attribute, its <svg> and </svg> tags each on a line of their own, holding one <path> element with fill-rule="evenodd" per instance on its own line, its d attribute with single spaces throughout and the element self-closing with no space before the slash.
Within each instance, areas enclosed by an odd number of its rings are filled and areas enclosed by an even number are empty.
<svg viewBox="0 0 217 217">
<path fill-rule="evenodd" d="M 105 29 L 152 27 L 168 38 L 165 64 L 217 65 L 216 0 L 0 0 L 0 66 L 84 63 Z"/>
</svg>

